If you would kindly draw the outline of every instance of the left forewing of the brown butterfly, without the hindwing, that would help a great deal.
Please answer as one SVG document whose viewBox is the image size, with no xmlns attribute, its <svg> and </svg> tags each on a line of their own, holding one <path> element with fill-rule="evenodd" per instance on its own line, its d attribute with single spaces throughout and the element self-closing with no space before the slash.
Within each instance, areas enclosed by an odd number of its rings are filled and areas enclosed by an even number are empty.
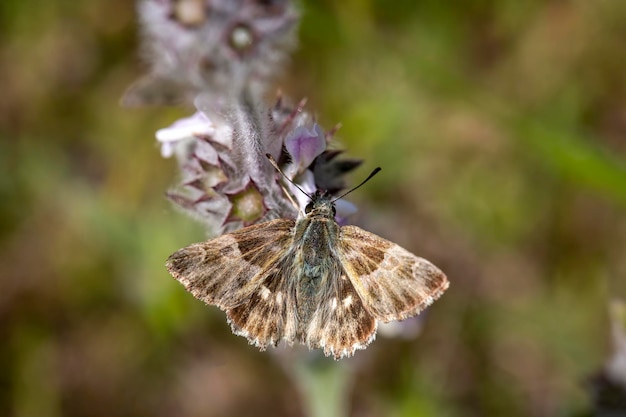
<svg viewBox="0 0 626 417">
<path fill-rule="evenodd" d="M 274 267 L 292 246 L 294 224 L 271 220 L 187 246 L 168 258 L 167 269 L 194 297 L 233 309 L 274 278 Z"/>
</svg>

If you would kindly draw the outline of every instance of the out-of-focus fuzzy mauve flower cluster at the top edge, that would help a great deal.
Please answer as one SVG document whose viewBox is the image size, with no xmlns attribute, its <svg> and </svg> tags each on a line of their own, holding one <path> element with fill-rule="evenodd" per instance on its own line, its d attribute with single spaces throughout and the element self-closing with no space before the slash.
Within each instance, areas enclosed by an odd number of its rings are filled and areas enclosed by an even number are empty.
<svg viewBox="0 0 626 417">
<path fill-rule="evenodd" d="M 192 102 L 200 92 L 238 96 L 266 90 L 295 44 L 289 1 L 142 0 L 139 18 L 149 75 L 126 105 Z"/>
</svg>

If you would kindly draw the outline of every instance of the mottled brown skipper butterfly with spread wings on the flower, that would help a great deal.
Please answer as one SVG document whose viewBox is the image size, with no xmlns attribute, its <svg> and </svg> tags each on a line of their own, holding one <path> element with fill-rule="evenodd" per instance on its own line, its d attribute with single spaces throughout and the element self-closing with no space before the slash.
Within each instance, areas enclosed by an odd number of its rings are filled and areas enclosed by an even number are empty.
<svg viewBox="0 0 626 417">
<path fill-rule="evenodd" d="M 285 341 L 335 359 L 365 349 L 378 321 L 414 316 L 448 288 L 426 259 L 340 226 L 337 198 L 328 192 L 309 197 L 297 220 L 270 220 L 180 249 L 167 260 L 169 272 L 225 311 L 233 332 L 261 350 Z"/>
</svg>

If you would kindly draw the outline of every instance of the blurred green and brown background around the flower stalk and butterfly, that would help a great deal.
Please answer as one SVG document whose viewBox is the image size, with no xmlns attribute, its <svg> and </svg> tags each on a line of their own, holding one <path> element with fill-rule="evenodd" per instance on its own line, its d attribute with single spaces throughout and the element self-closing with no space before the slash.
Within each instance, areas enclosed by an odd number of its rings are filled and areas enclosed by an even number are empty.
<svg viewBox="0 0 626 417">
<path fill-rule="evenodd" d="M 383 172 L 360 224 L 451 288 L 351 359 L 351 415 L 574 416 L 626 296 L 626 2 L 308 0 L 278 85 Z M 304 415 L 274 355 L 168 275 L 128 0 L 0 2 L 0 415 Z"/>
</svg>

